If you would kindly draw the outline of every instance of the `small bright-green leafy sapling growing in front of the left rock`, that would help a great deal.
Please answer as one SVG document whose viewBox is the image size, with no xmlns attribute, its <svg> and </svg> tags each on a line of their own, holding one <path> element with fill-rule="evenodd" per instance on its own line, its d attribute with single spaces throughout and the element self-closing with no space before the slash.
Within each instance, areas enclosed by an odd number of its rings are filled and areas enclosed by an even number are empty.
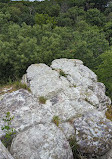
<svg viewBox="0 0 112 159">
<path fill-rule="evenodd" d="M 10 112 L 6 113 L 5 118 L 3 121 L 6 123 L 5 126 L 2 127 L 2 130 L 5 131 L 5 136 L 2 137 L 1 141 L 6 148 L 10 148 L 12 139 L 16 134 L 15 130 L 11 128 L 11 121 L 14 119 L 14 116 L 10 116 Z"/>
</svg>

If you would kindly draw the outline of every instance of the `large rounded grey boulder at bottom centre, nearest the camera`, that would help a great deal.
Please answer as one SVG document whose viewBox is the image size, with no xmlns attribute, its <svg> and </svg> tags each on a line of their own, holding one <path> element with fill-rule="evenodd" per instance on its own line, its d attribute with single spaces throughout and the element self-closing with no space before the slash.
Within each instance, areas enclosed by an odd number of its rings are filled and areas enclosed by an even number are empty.
<svg viewBox="0 0 112 159">
<path fill-rule="evenodd" d="M 54 124 L 38 124 L 17 135 L 11 153 L 21 159 L 73 159 L 66 137 Z"/>
</svg>

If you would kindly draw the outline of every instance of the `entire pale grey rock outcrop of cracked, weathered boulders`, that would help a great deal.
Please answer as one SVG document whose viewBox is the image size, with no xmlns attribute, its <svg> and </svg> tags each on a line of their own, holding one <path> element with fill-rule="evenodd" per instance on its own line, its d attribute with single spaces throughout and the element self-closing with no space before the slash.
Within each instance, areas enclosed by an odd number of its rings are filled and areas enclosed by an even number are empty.
<svg viewBox="0 0 112 159">
<path fill-rule="evenodd" d="M 82 61 L 57 59 L 50 67 L 32 64 L 22 82 L 31 93 L 23 89 L 6 93 L 0 102 L 0 127 L 6 112 L 14 115 L 17 135 L 10 149 L 14 158 L 73 159 L 68 140 L 75 135 L 80 153 L 88 159 L 110 159 L 112 122 L 105 111 L 111 101 Z M 46 98 L 45 104 L 40 97 Z M 3 133 L 0 130 L 1 137 Z"/>
</svg>

